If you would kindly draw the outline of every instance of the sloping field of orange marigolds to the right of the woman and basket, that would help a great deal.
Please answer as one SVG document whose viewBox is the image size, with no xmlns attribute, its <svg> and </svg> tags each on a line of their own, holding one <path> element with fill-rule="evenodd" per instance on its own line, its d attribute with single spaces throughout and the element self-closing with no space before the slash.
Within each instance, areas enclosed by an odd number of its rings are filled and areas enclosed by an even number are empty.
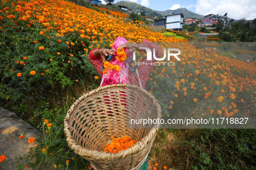
<svg viewBox="0 0 256 170">
<path fill-rule="evenodd" d="M 206 43 L 201 43 L 202 47 Z M 207 43 L 211 44 L 211 43 Z M 175 66 L 155 66 L 146 89 L 159 101 L 163 115 L 172 118 L 189 115 L 192 110 L 209 116 L 236 117 L 250 120 L 256 109 L 256 67 L 210 49 L 196 49 L 191 43 L 160 43 L 162 49 L 181 50 L 178 62 L 174 57 L 164 62 Z M 217 45 L 217 44 L 216 44 Z M 210 46 L 211 47 L 211 46 Z M 163 50 L 164 53 L 164 50 Z M 174 85 L 173 85 L 174 84 Z M 193 101 L 193 102 L 192 102 Z M 184 105 L 187 108 L 184 108 Z M 199 109 L 200 108 L 200 109 Z"/>
</svg>

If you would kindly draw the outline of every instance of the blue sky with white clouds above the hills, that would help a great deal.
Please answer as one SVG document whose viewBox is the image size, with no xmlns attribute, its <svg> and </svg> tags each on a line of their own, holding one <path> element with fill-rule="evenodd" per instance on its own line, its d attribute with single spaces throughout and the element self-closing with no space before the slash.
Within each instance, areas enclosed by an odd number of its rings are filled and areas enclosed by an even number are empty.
<svg viewBox="0 0 256 170">
<path fill-rule="evenodd" d="M 102 0 L 103 1 L 103 0 Z M 115 0 L 117 3 L 121 0 Z M 256 0 L 126 0 L 136 2 L 153 10 L 187 8 L 191 12 L 201 14 L 219 14 L 232 19 L 255 19 Z"/>
</svg>

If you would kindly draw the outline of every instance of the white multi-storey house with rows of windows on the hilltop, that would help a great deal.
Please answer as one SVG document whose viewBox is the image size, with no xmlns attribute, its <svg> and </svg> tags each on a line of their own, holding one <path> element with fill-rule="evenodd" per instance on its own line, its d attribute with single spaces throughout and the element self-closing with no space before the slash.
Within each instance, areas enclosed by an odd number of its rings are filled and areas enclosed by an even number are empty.
<svg viewBox="0 0 256 170">
<path fill-rule="evenodd" d="M 183 18 L 183 13 L 172 13 L 172 15 L 166 16 L 166 29 L 180 31 L 182 29 Z"/>
</svg>

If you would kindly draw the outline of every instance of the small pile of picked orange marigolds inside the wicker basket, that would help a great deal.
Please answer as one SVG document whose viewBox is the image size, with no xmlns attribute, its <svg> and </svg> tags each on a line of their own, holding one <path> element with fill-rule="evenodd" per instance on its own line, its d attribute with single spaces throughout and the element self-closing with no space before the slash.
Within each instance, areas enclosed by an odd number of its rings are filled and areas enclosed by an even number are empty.
<svg viewBox="0 0 256 170">
<path fill-rule="evenodd" d="M 131 148 L 134 144 L 137 143 L 136 140 L 131 140 L 130 137 L 126 136 L 123 136 L 122 138 L 117 137 L 117 139 L 114 139 L 114 136 L 111 136 L 110 139 L 112 139 L 112 143 L 108 143 L 106 148 L 104 148 L 104 151 L 109 153 L 117 153 L 121 150 Z"/>
</svg>

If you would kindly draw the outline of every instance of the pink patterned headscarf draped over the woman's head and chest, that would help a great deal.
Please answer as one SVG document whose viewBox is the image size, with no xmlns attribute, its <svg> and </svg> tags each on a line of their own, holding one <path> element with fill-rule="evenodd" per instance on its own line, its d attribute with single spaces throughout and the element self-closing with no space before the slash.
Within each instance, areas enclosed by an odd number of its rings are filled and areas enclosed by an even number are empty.
<svg viewBox="0 0 256 170">
<path fill-rule="evenodd" d="M 118 37 L 115 39 L 112 49 L 117 50 L 120 45 L 127 42 L 128 41 L 125 38 Z M 117 51 L 112 55 L 112 60 L 110 60 L 109 63 L 118 65 L 120 67 L 120 71 L 108 70 L 108 73 L 104 75 L 102 86 L 126 83 L 126 69 L 128 69 L 130 62 L 132 61 L 132 53 L 130 53 L 128 49 L 124 49 L 124 51 L 126 52 L 126 61 L 124 62 L 119 62 L 116 59 Z"/>
</svg>

